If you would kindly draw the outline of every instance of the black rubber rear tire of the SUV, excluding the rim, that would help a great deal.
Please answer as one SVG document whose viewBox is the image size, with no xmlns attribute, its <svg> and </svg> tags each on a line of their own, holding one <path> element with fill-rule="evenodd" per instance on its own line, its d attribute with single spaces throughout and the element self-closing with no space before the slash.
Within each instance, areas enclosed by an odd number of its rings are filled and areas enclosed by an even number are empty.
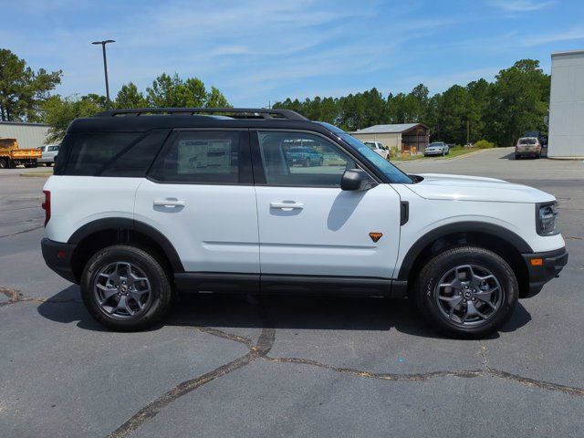
<svg viewBox="0 0 584 438">
<path fill-rule="evenodd" d="M 149 308 L 136 318 L 120 319 L 107 315 L 96 302 L 93 285 L 99 271 L 114 262 L 129 262 L 148 277 L 151 285 Z M 91 257 L 81 276 L 81 297 L 90 315 L 108 328 L 130 331 L 146 328 L 162 317 L 171 302 L 171 287 L 162 266 L 140 248 L 115 245 L 100 250 Z"/>
</svg>

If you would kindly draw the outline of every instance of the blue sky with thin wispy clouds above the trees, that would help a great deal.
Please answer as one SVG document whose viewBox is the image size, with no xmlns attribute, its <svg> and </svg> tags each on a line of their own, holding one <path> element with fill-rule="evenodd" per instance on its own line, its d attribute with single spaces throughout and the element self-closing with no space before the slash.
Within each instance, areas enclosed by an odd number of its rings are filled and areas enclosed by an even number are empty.
<svg viewBox="0 0 584 438">
<path fill-rule="evenodd" d="M 201 78 L 239 107 L 423 83 L 494 80 L 521 58 L 584 49 L 584 0 L 0 0 L 0 48 L 63 70 L 63 96 Z"/>
</svg>

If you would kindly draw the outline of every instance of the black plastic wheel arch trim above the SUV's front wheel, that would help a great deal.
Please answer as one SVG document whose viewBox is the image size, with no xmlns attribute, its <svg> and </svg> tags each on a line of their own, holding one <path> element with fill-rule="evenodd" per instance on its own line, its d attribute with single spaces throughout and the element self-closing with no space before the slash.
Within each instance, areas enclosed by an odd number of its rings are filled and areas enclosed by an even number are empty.
<svg viewBox="0 0 584 438">
<path fill-rule="evenodd" d="M 446 224 L 422 235 L 403 258 L 397 279 L 412 286 L 416 272 L 431 256 L 459 245 L 479 245 L 503 257 L 516 273 L 520 297 L 527 295 L 527 266 L 521 254 L 532 253 L 531 246 L 500 225 L 482 222 Z"/>
</svg>

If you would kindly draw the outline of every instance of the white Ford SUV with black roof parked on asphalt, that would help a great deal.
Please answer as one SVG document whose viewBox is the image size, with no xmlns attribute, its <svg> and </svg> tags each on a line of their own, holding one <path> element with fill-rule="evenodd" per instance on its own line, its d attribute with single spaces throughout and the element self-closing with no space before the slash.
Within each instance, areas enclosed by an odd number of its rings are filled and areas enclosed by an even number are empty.
<svg viewBox="0 0 584 438">
<path fill-rule="evenodd" d="M 305 144 L 322 161 L 290 165 Z M 177 292 L 303 293 L 409 297 L 435 328 L 480 337 L 568 260 L 552 195 L 407 175 L 288 110 L 75 120 L 44 189 L 47 265 L 120 330 L 150 326 Z"/>
</svg>

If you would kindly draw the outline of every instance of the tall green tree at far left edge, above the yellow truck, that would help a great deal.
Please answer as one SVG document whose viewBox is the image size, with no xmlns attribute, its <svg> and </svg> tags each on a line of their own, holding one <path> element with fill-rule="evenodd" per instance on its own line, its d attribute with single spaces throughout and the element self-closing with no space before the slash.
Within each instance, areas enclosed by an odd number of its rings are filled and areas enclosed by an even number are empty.
<svg viewBox="0 0 584 438">
<path fill-rule="evenodd" d="M 35 71 L 10 50 L 0 49 L 0 120 L 38 121 L 40 107 L 61 76 L 61 70 Z"/>
</svg>

